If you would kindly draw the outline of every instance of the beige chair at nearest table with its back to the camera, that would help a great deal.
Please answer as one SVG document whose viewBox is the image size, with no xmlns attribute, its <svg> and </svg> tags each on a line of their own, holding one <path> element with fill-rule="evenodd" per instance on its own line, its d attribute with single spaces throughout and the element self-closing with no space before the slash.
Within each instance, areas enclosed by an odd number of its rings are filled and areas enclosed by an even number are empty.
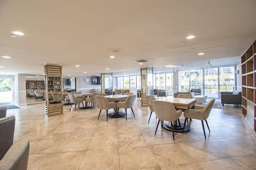
<svg viewBox="0 0 256 170">
<path fill-rule="evenodd" d="M 175 107 L 171 102 L 166 102 L 166 101 L 159 101 L 159 100 L 154 100 L 153 101 L 153 109 L 156 113 L 156 117 L 159 119 L 157 126 L 156 126 L 156 131 L 159 125 L 160 120 L 162 121 L 169 121 L 171 123 L 172 127 L 172 136 L 174 140 L 174 132 L 173 132 L 173 121 L 176 121 L 178 119 L 179 125 L 180 125 L 180 119 L 179 117 L 182 114 L 182 110 L 176 111 Z M 181 125 L 180 125 L 180 131 L 181 130 Z M 156 135 L 156 132 L 155 132 Z"/>
</svg>

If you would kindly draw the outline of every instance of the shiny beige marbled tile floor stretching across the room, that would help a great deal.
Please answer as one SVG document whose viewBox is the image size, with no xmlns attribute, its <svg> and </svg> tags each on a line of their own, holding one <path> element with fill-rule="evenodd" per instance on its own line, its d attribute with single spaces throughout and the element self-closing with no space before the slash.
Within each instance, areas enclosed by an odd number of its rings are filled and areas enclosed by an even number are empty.
<svg viewBox="0 0 256 170">
<path fill-rule="evenodd" d="M 14 140 L 30 141 L 29 170 L 255 170 L 256 134 L 241 107 L 212 109 L 206 128 L 193 120 L 184 134 L 158 128 L 154 113 L 136 104 L 125 117 L 109 118 L 99 109 L 64 106 L 64 114 L 46 117 L 44 104 L 7 110 L 16 116 Z M 184 117 L 180 120 L 183 122 Z"/>
</svg>

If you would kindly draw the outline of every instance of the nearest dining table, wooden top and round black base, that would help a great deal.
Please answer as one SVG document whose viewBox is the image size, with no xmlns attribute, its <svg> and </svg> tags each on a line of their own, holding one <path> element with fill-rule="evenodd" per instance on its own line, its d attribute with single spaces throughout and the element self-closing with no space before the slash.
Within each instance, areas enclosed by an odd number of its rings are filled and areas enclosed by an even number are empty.
<svg viewBox="0 0 256 170">
<path fill-rule="evenodd" d="M 196 99 L 187 99 L 187 98 L 160 98 L 157 99 L 160 101 L 166 101 L 166 102 L 170 102 L 173 104 L 173 106 L 177 109 L 190 109 L 191 106 L 193 106 L 194 104 L 196 104 L 197 100 Z M 183 131 L 183 127 L 184 127 L 184 132 L 186 131 L 190 131 L 190 127 L 188 125 L 184 123 L 180 123 L 180 125 L 178 125 L 177 120 L 174 121 L 173 123 L 173 131 L 174 132 L 182 132 Z M 182 131 L 180 131 L 180 126 Z M 172 131 L 172 127 L 170 125 L 170 122 L 165 122 L 163 123 L 163 128 L 168 130 L 168 131 Z"/>
</svg>

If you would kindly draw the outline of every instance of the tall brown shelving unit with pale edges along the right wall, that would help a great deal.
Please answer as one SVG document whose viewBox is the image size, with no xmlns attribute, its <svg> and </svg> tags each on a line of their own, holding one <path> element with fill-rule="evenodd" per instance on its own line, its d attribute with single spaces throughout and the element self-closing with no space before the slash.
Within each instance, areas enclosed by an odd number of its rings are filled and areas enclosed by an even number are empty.
<svg viewBox="0 0 256 170">
<path fill-rule="evenodd" d="M 242 114 L 256 130 L 256 40 L 241 56 Z"/>
</svg>

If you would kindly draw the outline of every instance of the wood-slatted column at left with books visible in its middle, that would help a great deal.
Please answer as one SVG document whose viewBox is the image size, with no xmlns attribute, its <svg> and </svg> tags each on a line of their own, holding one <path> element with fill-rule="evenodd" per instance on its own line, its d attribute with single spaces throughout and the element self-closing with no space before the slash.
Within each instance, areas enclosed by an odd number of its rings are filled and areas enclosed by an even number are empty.
<svg viewBox="0 0 256 170">
<path fill-rule="evenodd" d="M 45 64 L 44 75 L 46 87 L 45 113 L 48 117 L 63 114 L 62 101 L 58 104 L 53 104 L 50 102 L 50 99 L 52 99 L 51 93 L 56 95 L 58 92 L 60 92 L 60 96 L 62 96 L 62 66 Z"/>
</svg>

